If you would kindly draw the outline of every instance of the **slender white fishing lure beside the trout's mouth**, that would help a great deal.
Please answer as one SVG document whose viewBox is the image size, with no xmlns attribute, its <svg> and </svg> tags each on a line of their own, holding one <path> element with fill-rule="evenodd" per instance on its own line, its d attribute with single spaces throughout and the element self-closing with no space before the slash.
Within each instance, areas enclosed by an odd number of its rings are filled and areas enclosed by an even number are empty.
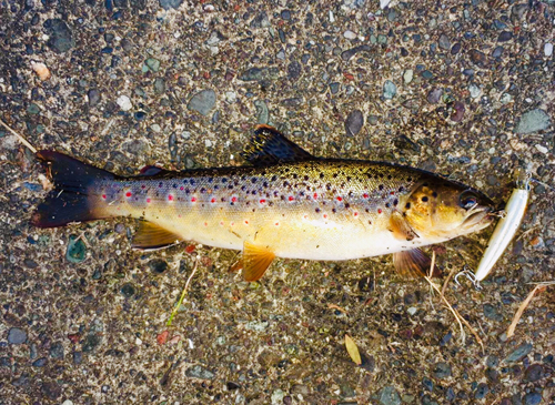
<svg viewBox="0 0 555 405">
<path fill-rule="evenodd" d="M 497 226 L 493 231 L 484 256 L 480 261 L 476 270 L 476 281 L 482 281 L 492 272 L 492 269 L 500 260 L 507 245 L 513 240 L 516 231 L 521 226 L 529 196 L 529 176 L 525 171 L 518 173 L 516 189 L 505 206 L 505 215 L 500 219 Z"/>
</svg>

